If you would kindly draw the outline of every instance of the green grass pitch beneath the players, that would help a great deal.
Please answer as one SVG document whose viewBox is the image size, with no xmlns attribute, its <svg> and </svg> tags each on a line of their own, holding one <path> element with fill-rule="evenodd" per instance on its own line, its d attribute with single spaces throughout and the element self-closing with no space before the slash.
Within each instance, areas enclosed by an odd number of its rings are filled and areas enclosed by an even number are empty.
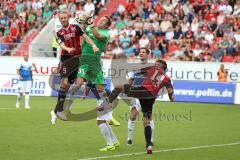
<svg viewBox="0 0 240 160">
<path fill-rule="evenodd" d="M 80 160 L 104 156 L 118 160 L 240 159 L 240 144 L 211 146 L 240 142 L 239 105 L 156 102 L 154 151 L 159 152 L 147 155 L 141 115 L 135 126 L 134 145 L 126 145 L 129 107 L 122 101 L 114 110 L 121 126 L 113 127 L 121 146 L 112 152 L 98 151 L 105 142 L 95 119 L 58 120 L 52 126 L 49 112 L 56 98 L 31 97 L 30 110 L 24 109 L 23 102 L 24 98 L 21 108 L 15 109 L 16 96 L 0 96 L 0 160 Z M 73 112 L 84 112 L 96 107 L 96 102 L 76 100 L 74 106 Z M 206 145 L 210 147 L 200 147 Z M 171 150 L 174 148 L 177 150 Z"/>
</svg>

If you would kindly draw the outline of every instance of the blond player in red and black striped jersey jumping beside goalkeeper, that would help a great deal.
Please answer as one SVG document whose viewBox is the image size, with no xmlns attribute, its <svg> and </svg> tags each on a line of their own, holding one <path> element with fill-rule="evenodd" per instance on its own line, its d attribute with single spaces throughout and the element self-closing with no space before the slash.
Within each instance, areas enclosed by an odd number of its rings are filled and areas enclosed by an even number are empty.
<svg viewBox="0 0 240 160">
<path fill-rule="evenodd" d="M 57 32 L 57 41 L 62 49 L 60 57 L 61 84 L 58 92 L 57 105 L 54 112 L 51 112 L 52 124 L 55 124 L 56 115 L 62 120 L 67 120 L 66 115 L 63 113 L 63 103 L 66 98 L 66 93 L 70 85 L 73 84 L 78 72 L 79 57 L 81 55 L 80 37 L 83 37 L 86 42 L 91 45 L 95 53 L 99 51 L 81 27 L 75 24 L 69 24 L 67 11 L 59 12 L 58 16 L 62 25 L 62 28 Z"/>
</svg>

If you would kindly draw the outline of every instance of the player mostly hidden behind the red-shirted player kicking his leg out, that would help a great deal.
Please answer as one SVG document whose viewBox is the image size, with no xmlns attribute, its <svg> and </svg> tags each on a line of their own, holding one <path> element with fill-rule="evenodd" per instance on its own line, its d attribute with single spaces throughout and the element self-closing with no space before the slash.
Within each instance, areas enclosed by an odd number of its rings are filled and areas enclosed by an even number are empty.
<svg viewBox="0 0 240 160">
<path fill-rule="evenodd" d="M 149 56 L 150 50 L 147 48 L 141 48 L 139 51 L 139 58 L 140 58 L 140 63 L 141 63 L 141 68 L 147 67 L 148 65 L 148 56 Z M 129 79 L 129 83 L 138 83 L 136 81 L 141 81 L 141 79 L 138 79 L 136 77 L 135 72 L 129 72 L 127 74 L 127 78 Z M 140 84 L 140 83 L 139 83 Z M 137 98 L 131 97 L 131 102 L 130 102 L 130 111 L 131 115 L 128 120 L 128 138 L 127 138 L 127 144 L 132 145 L 132 139 L 133 139 L 133 131 L 135 127 L 135 122 L 136 118 L 138 115 L 138 112 L 141 111 L 141 105 L 140 102 Z M 154 135 L 154 122 L 153 120 L 150 121 L 150 126 L 152 129 L 152 137 L 151 137 L 151 142 L 153 143 L 153 135 Z"/>
</svg>

